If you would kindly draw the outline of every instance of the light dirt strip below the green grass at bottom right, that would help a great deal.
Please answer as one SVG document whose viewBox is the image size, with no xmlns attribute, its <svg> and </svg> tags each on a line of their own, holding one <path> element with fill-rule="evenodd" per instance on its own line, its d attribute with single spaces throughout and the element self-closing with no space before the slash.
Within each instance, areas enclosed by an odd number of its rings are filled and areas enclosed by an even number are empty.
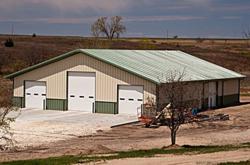
<svg viewBox="0 0 250 165">
<path fill-rule="evenodd" d="M 99 165 L 215 165 L 222 162 L 240 162 L 250 160 L 250 150 L 238 150 L 217 152 L 208 154 L 196 155 L 158 155 L 152 158 L 132 158 L 132 159 L 117 159 L 107 162 L 99 162 Z"/>
</svg>

